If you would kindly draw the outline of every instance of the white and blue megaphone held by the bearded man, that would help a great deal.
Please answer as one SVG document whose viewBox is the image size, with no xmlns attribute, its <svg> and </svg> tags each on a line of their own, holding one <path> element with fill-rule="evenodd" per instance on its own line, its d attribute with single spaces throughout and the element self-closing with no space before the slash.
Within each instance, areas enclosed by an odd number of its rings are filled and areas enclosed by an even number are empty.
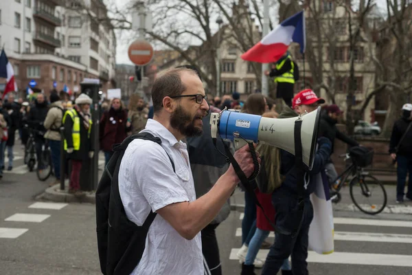
<svg viewBox="0 0 412 275">
<path fill-rule="evenodd" d="M 263 142 L 295 155 L 295 122 L 301 120 L 301 146 L 304 164 L 312 170 L 321 107 L 295 118 L 264 118 L 260 115 L 221 111 L 211 113 L 211 136 L 224 140 Z"/>
</svg>

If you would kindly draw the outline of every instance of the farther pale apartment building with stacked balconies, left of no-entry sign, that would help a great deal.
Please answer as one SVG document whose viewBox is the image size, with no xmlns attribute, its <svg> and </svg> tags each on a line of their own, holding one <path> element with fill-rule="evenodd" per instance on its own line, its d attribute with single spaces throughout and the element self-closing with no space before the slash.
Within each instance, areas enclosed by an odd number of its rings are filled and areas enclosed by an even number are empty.
<svg viewBox="0 0 412 275">
<path fill-rule="evenodd" d="M 56 13 L 63 21 L 55 32 L 62 43 L 56 54 L 86 65 L 89 74 L 100 78 L 103 91 L 114 87 L 116 38 L 103 1 L 66 1 Z"/>
</svg>

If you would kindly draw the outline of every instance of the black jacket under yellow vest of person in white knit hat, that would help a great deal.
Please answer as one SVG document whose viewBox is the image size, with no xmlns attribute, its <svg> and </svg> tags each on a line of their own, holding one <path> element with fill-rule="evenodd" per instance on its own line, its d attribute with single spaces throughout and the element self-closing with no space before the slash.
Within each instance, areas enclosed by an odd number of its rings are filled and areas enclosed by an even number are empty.
<svg viewBox="0 0 412 275">
<path fill-rule="evenodd" d="M 95 146 L 93 146 L 93 142 L 91 142 L 94 136 L 94 133 L 93 133 L 94 125 L 93 124 L 91 125 L 91 129 L 90 129 L 91 132 L 90 132 L 90 137 L 89 137 L 89 131 L 83 125 L 82 116 L 79 115 L 79 118 L 80 118 L 80 148 L 78 151 L 73 151 L 73 153 L 71 154 L 67 153 L 67 157 L 69 159 L 86 160 L 89 158 L 89 152 L 95 151 Z M 64 133 L 65 133 L 65 140 L 67 142 L 67 148 L 73 148 L 73 137 L 71 135 L 72 131 L 73 131 L 73 120 L 71 120 L 70 115 L 66 115 Z"/>
</svg>

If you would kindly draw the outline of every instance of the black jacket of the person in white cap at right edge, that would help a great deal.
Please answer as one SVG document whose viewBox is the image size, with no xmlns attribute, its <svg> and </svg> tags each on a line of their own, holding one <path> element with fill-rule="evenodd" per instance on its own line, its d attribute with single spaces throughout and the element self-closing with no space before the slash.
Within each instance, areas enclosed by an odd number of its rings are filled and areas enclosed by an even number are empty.
<svg viewBox="0 0 412 275">
<path fill-rule="evenodd" d="M 407 131 L 407 128 L 411 123 L 411 120 L 407 118 L 400 118 L 396 120 L 395 124 L 393 124 L 393 130 L 391 135 L 391 142 L 389 144 L 389 153 L 396 153 L 396 146 L 400 142 L 400 138 L 402 135 Z M 405 135 L 404 139 L 402 140 L 402 144 L 399 145 L 398 155 L 411 155 L 412 154 L 412 126 L 409 129 L 407 135 Z"/>
</svg>

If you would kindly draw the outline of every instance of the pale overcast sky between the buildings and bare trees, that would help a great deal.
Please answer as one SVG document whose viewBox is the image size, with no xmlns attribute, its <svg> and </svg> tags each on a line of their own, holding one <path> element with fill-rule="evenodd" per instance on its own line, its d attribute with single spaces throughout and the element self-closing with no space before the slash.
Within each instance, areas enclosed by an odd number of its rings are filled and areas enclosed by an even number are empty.
<svg viewBox="0 0 412 275">
<path fill-rule="evenodd" d="M 123 10 L 122 8 L 124 8 L 124 6 L 127 3 L 130 3 L 130 0 L 106 0 L 106 4 L 108 4 L 109 9 L 111 5 L 116 5 L 119 10 Z M 382 10 L 382 12 L 385 12 L 386 0 L 376 0 L 375 3 L 378 3 L 380 10 Z M 130 17 L 131 17 L 131 14 L 130 14 Z M 212 27 L 217 29 L 217 25 L 212 26 Z M 135 39 L 137 39 L 137 35 L 135 34 L 135 32 L 125 31 L 125 30 L 122 30 L 122 31 L 116 30 L 115 33 L 116 33 L 116 38 L 117 38 L 116 63 L 117 64 L 124 63 L 124 64 L 133 65 L 133 63 L 131 63 L 130 59 L 128 58 L 127 52 L 128 52 L 128 46 Z"/>
</svg>

